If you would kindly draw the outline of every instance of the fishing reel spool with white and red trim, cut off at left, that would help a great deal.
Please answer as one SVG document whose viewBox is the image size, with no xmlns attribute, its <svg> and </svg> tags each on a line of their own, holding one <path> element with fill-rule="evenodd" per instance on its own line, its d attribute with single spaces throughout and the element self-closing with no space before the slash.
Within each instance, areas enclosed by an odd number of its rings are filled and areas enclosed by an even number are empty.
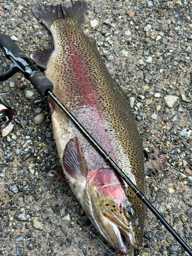
<svg viewBox="0 0 192 256">
<path fill-rule="evenodd" d="M 12 120 L 14 96 L 8 93 L 0 94 L 0 130 L 3 130 Z"/>
</svg>

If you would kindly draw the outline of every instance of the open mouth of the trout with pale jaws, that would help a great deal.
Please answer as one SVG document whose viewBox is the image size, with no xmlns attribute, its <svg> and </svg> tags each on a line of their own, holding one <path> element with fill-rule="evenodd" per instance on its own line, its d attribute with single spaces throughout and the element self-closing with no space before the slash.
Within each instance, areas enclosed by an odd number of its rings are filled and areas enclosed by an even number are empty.
<svg viewBox="0 0 192 256">
<path fill-rule="evenodd" d="M 108 219 L 108 222 L 113 227 L 113 230 L 119 242 L 119 246 L 121 247 L 120 250 L 117 250 L 119 254 L 125 255 L 129 252 L 129 250 L 126 248 L 122 241 L 121 235 L 125 237 L 129 245 L 131 245 L 135 249 L 138 248 L 131 225 L 128 226 L 118 215 L 106 209 L 102 209 L 102 214 L 106 219 Z"/>
</svg>

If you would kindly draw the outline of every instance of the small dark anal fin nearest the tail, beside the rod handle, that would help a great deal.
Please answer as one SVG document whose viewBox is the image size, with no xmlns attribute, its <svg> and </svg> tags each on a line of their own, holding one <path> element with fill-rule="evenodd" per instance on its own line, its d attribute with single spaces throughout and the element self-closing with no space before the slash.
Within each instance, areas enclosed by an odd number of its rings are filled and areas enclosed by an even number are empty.
<svg viewBox="0 0 192 256">
<path fill-rule="evenodd" d="M 32 58 L 33 61 L 35 61 L 37 66 L 46 70 L 47 63 L 53 51 L 54 51 L 54 48 L 44 49 L 41 52 L 33 52 L 30 55 L 30 57 Z"/>
</svg>

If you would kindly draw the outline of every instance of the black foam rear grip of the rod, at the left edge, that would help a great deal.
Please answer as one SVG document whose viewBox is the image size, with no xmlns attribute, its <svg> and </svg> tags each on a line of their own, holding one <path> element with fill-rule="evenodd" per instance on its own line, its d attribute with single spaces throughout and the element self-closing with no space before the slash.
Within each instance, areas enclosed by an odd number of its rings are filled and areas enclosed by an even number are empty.
<svg viewBox="0 0 192 256">
<path fill-rule="evenodd" d="M 27 58 L 26 54 L 20 50 L 8 35 L 0 34 L 0 47 L 6 47 L 15 57 Z"/>
</svg>

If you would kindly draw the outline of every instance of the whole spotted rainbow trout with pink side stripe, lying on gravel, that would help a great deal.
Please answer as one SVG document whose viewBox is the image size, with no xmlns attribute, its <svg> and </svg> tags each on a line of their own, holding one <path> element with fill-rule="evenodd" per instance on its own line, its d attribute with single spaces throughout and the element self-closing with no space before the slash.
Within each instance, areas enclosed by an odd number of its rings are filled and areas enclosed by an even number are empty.
<svg viewBox="0 0 192 256">
<path fill-rule="evenodd" d="M 96 41 L 81 29 L 85 10 L 84 1 L 33 8 L 51 31 L 54 50 L 31 57 L 46 69 L 54 94 L 144 193 L 143 151 L 131 106 L 106 69 Z M 142 201 L 58 106 L 50 99 L 49 104 L 62 172 L 83 210 L 118 253 L 128 253 L 121 235 L 138 248 Z"/>
</svg>

